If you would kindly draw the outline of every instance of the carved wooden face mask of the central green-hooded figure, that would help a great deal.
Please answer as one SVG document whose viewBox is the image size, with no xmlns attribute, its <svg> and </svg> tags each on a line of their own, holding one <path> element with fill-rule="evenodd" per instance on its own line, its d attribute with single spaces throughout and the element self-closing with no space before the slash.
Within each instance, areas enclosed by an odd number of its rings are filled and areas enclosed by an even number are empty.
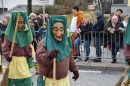
<svg viewBox="0 0 130 86">
<path fill-rule="evenodd" d="M 62 41 L 64 36 L 64 26 L 62 23 L 57 22 L 52 27 L 52 33 L 56 41 Z"/>
</svg>

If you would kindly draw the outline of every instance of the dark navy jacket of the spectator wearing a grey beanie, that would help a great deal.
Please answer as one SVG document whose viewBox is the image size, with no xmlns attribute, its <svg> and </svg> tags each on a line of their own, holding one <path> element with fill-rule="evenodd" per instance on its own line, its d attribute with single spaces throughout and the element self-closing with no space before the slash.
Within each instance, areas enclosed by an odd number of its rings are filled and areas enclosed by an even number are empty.
<svg viewBox="0 0 130 86">
<path fill-rule="evenodd" d="M 97 21 L 95 22 L 92 31 L 100 32 L 100 31 L 103 31 L 103 29 L 104 29 L 104 20 L 103 20 L 102 16 L 100 16 L 97 18 Z M 93 33 L 93 36 L 97 37 L 97 38 L 99 38 L 99 37 L 102 38 L 103 33 L 100 33 L 100 34 Z"/>
</svg>

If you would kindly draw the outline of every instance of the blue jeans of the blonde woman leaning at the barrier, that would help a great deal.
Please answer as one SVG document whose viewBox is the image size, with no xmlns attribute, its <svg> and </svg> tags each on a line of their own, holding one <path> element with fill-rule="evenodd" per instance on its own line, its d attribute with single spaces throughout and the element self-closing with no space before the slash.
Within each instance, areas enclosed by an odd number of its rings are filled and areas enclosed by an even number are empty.
<svg viewBox="0 0 130 86">
<path fill-rule="evenodd" d="M 78 37 L 75 41 L 74 41 L 74 47 L 76 49 L 76 51 L 78 53 L 80 53 L 80 49 L 79 49 L 79 45 L 80 45 L 80 38 Z M 89 56 L 90 54 L 90 41 L 89 40 L 85 40 L 84 45 L 86 47 L 86 57 Z"/>
</svg>

